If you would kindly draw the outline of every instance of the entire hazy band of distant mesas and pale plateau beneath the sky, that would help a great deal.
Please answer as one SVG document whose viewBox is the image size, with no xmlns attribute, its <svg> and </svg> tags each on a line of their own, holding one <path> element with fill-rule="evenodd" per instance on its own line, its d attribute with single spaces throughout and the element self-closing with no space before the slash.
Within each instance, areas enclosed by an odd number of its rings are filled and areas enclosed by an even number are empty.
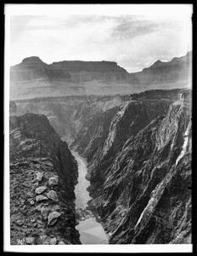
<svg viewBox="0 0 197 256">
<path fill-rule="evenodd" d="M 127 73 L 114 61 L 58 61 L 37 56 L 10 67 L 10 99 L 45 96 L 128 95 L 144 90 L 191 87 L 192 52 Z"/>
</svg>

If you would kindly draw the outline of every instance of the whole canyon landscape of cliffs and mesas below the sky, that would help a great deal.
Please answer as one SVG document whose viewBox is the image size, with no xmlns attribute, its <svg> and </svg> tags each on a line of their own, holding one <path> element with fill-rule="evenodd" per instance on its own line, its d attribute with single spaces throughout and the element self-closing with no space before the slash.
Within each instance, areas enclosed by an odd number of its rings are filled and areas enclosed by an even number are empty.
<svg viewBox="0 0 197 256">
<path fill-rule="evenodd" d="M 76 227 L 82 216 L 85 221 L 86 216 L 98 216 L 110 244 L 192 243 L 190 73 L 190 53 L 132 74 L 110 61 L 47 65 L 31 57 L 11 67 L 11 241 L 80 244 Z M 130 89 L 112 93 L 99 87 L 100 95 L 81 89 L 63 93 L 70 83 L 93 80 L 101 87 L 110 84 L 114 89 L 118 84 L 121 90 L 127 84 Z M 51 87 L 46 93 L 42 83 L 47 88 L 53 84 L 58 93 L 51 95 Z M 83 178 L 89 184 L 84 185 L 87 208 L 81 212 L 76 190 L 83 166 L 79 156 L 86 162 Z M 40 181 L 37 173 L 42 173 Z M 59 183 L 51 187 L 50 178 Z M 39 195 L 45 199 L 37 201 L 36 191 L 42 187 Z M 48 198 L 52 189 L 59 201 Z M 53 225 L 50 212 L 60 214 Z"/>
</svg>

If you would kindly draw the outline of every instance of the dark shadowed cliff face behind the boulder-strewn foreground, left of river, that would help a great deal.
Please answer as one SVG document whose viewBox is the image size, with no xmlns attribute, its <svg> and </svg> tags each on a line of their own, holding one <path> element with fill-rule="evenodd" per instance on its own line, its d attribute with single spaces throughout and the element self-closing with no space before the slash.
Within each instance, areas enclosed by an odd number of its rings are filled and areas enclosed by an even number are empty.
<svg viewBox="0 0 197 256">
<path fill-rule="evenodd" d="M 67 143 L 60 140 L 46 116 L 26 113 L 11 117 L 10 130 L 10 160 L 25 157 L 52 158 L 65 193 L 74 198 L 73 190 L 77 180 L 75 159 Z"/>
</svg>

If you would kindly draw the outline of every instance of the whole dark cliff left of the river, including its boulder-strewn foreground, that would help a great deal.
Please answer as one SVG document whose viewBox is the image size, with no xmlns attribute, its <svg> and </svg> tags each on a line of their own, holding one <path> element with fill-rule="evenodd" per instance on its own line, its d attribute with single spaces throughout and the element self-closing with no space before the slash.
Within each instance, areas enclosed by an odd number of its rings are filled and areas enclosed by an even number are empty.
<svg viewBox="0 0 197 256">
<path fill-rule="evenodd" d="M 11 244 L 80 243 L 67 144 L 44 115 L 10 116 L 9 130 Z"/>
</svg>

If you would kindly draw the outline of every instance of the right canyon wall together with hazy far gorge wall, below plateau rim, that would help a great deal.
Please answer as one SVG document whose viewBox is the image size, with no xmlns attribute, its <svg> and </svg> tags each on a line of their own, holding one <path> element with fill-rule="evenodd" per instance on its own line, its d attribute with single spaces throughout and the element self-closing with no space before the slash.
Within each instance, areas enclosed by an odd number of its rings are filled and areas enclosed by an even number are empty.
<svg viewBox="0 0 197 256">
<path fill-rule="evenodd" d="M 191 243 L 191 90 L 15 105 L 17 114 L 46 114 L 86 158 L 90 207 L 110 243 Z"/>
</svg>

